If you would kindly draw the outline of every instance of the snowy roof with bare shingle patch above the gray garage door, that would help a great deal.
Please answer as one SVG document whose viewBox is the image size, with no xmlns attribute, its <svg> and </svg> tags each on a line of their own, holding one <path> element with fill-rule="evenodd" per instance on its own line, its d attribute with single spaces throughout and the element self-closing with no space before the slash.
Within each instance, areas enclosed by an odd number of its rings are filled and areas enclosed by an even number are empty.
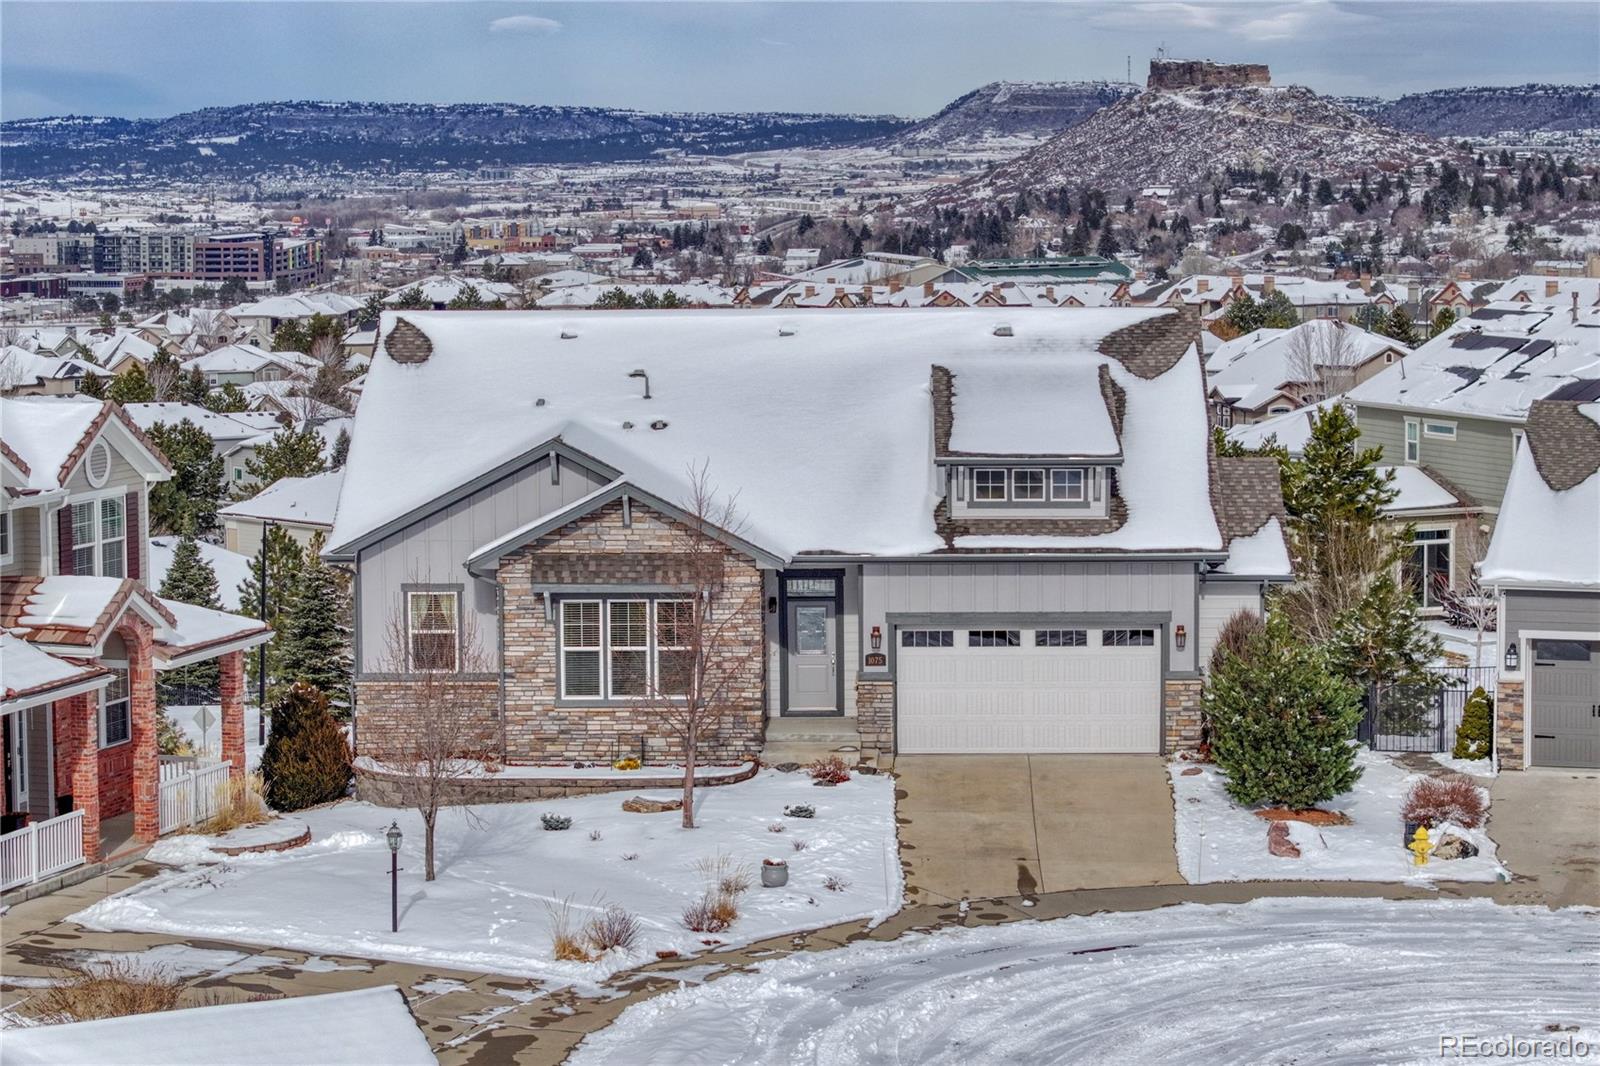
<svg viewBox="0 0 1600 1066">
<path fill-rule="evenodd" d="M 1478 567 L 1490 584 L 1600 589 L 1600 403 L 1534 405 Z"/>
</svg>

